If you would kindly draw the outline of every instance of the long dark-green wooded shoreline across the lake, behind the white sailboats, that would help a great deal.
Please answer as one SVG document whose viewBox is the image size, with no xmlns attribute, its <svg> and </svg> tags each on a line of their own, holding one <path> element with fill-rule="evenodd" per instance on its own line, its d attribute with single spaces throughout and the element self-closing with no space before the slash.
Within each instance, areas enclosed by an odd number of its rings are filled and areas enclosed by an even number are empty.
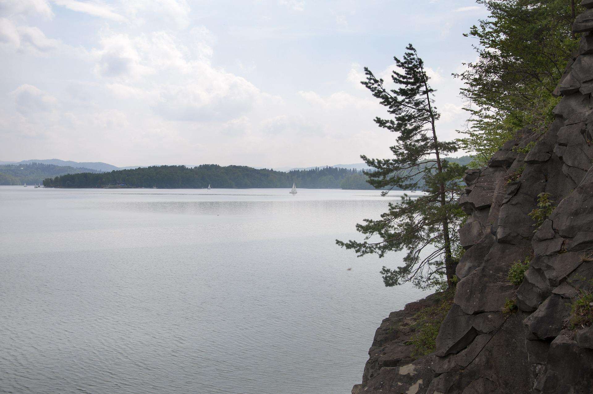
<svg viewBox="0 0 593 394">
<path fill-rule="evenodd" d="M 295 170 L 289 173 L 245 166 L 221 167 L 203 164 L 194 168 L 186 166 L 152 166 L 130 170 L 116 170 L 109 173 L 68 174 L 46 179 L 44 186 L 56 188 L 298 188 L 339 189 L 347 177 L 366 176 L 355 169 L 315 168 Z M 368 183 L 345 184 L 343 186 L 365 186 Z"/>
</svg>

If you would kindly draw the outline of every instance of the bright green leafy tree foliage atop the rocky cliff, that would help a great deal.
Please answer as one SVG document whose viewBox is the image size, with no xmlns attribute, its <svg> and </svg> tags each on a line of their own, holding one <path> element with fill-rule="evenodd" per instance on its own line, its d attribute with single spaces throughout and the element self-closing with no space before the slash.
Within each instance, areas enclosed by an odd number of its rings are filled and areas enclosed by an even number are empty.
<svg viewBox="0 0 593 394">
<path fill-rule="evenodd" d="M 571 33 L 572 0 L 477 0 L 490 12 L 466 36 L 477 39 L 478 59 L 455 74 L 470 113 L 461 147 L 477 164 L 516 131 L 545 132 L 558 99 L 552 92 L 578 46 Z"/>
</svg>

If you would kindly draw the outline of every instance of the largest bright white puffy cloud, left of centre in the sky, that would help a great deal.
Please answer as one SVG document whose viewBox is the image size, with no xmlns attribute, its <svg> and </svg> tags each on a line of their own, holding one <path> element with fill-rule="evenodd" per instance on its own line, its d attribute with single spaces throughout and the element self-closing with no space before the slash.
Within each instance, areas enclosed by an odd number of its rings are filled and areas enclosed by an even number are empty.
<svg viewBox="0 0 593 394">
<path fill-rule="evenodd" d="M 214 38 L 208 29 L 194 28 L 190 33 L 190 45 L 200 48 L 197 52 L 171 32 L 133 38 L 106 34 L 100 49 L 93 52 L 95 71 L 114 80 L 107 87 L 115 96 L 148 102 L 168 120 L 226 120 L 262 101 L 275 100 L 246 79 L 211 65 L 208 43 Z"/>
</svg>

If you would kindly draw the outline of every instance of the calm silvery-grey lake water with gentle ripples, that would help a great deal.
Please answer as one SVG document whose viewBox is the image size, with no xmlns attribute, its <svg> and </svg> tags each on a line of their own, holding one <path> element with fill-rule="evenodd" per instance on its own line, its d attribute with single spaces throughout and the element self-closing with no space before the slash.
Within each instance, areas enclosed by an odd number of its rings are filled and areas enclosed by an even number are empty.
<svg viewBox="0 0 593 394">
<path fill-rule="evenodd" d="M 334 244 L 395 196 L 0 186 L 0 392 L 347 394 L 424 294 Z"/>
</svg>

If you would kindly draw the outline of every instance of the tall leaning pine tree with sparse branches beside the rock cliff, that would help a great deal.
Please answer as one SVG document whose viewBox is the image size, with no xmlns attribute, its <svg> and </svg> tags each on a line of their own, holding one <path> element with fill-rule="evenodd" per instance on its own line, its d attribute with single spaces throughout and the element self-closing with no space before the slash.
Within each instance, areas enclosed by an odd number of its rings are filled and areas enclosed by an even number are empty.
<svg viewBox="0 0 593 394">
<path fill-rule="evenodd" d="M 393 158 L 377 159 L 362 155 L 374 170 L 366 171 L 369 183 L 377 189 L 393 188 L 420 191 L 404 194 L 398 203 L 389 203 L 388 211 L 378 220 L 365 219 L 356 230 L 365 234 L 362 242 L 336 243 L 353 249 L 359 256 L 406 250 L 403 265 L 383 267 L 386 286 L 412 282 L 426 288 L 436 284 L 454 286 L 457 265 L 457 229 L 463 212 L 457 205 L 461 177 L 465 167 L 444 160 L 444 155 L 458 150 L 457 142 L 443 142 L 436 133 L 439 113 L 434 93 L 422 59 L 412 44 L 406 47 L 403 60 L 394 57 L 397 69 L 391 80 L 397 88 L 388 90 L 384 81 L 365 67 L 366 81 L 361 83 L 380 100 L 391 115 L 375 118 L 381 128 L 397 134 L 390 147 Z M 401 72 L 400 72 L 401 71 Z M 443 277 L 446 277 L 446 282 Z"/>
</svg>

